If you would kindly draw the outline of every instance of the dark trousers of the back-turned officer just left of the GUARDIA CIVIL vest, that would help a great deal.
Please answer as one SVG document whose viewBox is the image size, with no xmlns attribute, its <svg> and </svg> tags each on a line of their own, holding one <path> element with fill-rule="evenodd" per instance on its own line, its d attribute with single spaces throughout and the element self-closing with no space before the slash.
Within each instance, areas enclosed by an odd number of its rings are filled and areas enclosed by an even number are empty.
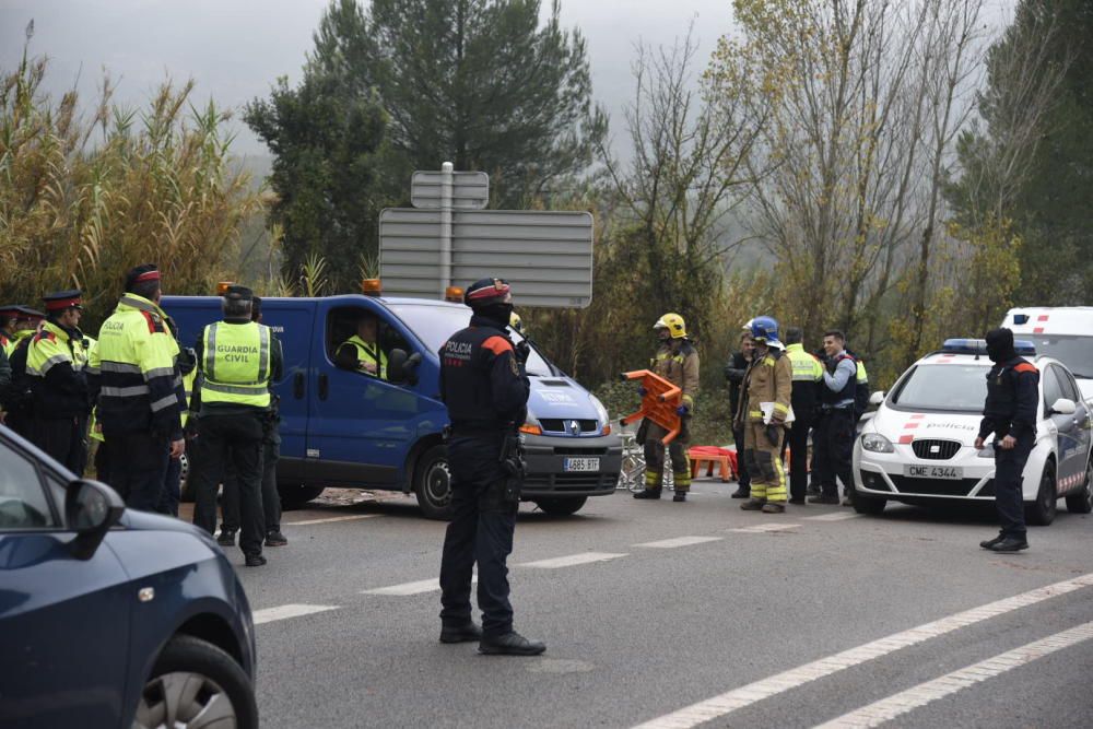
<svg viewBox="0 0 1093 729">
<path fill-rule="evenodd" d="M 146 431 L 103 435 L 109 461 L 108 483 L 126 499 L 126 506 L 158 510 L 167 470 L 167 438 Z"/>
</svg>

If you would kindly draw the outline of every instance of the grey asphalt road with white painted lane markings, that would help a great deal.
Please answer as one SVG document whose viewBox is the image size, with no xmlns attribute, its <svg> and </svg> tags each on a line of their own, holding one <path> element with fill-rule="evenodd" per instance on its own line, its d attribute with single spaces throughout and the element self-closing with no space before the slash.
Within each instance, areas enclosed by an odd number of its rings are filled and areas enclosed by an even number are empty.
<svg viewBox="0 0 1093 729">
<path fill-rule="evenodd" d="M 1093 726 L 1090 517 L 1002 556 L 977 545 L 989 510 L 772 516 L 732 487 L 524 505 L 509 577 L 538 658 L 437 642 L 444 525 L 412 499 L 286 513 L 289 546 L 239 568 L 262 726 Z"/>
</svg>

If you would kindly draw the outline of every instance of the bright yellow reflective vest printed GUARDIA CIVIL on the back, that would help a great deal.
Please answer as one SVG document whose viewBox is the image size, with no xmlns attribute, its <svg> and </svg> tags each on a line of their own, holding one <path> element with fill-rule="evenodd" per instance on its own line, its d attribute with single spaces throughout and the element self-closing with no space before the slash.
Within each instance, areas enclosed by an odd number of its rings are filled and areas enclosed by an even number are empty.
<svg viewBox="0 0 1093 729">
<path fill-rule="evenodd" d="M 218 321 L 204 328 L 201 340 L 201 403 L 269 408 L 269 327 Z"/>
</svg>

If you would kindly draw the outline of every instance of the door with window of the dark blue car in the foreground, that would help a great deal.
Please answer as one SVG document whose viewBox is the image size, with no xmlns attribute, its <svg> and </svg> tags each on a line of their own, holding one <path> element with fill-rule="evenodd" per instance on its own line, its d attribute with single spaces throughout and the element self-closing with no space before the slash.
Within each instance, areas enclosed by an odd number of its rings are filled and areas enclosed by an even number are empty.
<svg viewBox="0 0 1093 729">
<path fill-rule="evenodd" d="M 128 579 L 105 545 L 72 557 L 64 484 L 0 428 L 0 724 L 118 726 Z"/>
</svg>

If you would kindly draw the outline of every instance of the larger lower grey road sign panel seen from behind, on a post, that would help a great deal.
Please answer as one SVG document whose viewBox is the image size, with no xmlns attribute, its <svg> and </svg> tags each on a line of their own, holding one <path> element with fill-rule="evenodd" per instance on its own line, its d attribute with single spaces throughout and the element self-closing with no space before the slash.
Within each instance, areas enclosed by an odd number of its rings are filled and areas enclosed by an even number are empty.
<svg viewBox="0 0 1093 729">
<path fill-rule="evenodd" d="M 438 297 L 440 212 L 391 208 L 379 216 L 385 296 Z M 497 277 L 517 306 L 572 308 L 592 301 L 592 215 L 587 212 L 453 212 L 451 281 Z"/>
</svg>

